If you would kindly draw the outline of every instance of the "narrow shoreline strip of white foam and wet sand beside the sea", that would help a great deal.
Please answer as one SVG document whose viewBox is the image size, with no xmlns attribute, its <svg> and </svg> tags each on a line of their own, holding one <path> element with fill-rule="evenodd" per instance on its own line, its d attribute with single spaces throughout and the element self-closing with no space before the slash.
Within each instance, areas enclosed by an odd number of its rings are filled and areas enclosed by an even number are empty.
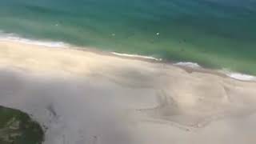
<svg viewBox="0 0 256 144">
<path fill-rule="evenodd" d="M 154 58 L 151 56 L 145 56 L 145 55 L 138 55 L 138 54 L 122 54 L 117 52 L 111 52 L 111 51 L 103 51 L 98 50 L 97 48 L 93 47 L 83 47 L 83 46 L 74 46 L 67 44 L 65 42 L 50 42 L 50 41 L 37 41 L 37 40 L 31 40 L 27 38 L 20 38 L 16 36 L 15 34 L 6 34 L 7 37 L 0 37 L 0 42 L 18 42 L 23 43 L 31 46 L 43 46 L 46 48 L 53 48 L 53 49 L 70 49 L 70 50 L 81 50 L 86 52 L 92 52 L 95 54 L 102 54 L 106 56 L 112 56 L 117 58 L 126 58 L 131 60 L 140 60 L 144 62 L 154 62 L 154 63 L 160 63 L 165 65 L 171 65 L 171 66 L 177 66 L 182 68 L 183 70 L 186 70 L 188 73 L 192 72 L 202 72 L 202 73 L 209 73 L 209 74 L 216 74 L 218 76 L 222 76 L 223 78 L 233 78 L 238 81 L 242 82 L 256 82 L 256 76 L 250 75 L 250 74 L 242 74 L 235 71 L 230 71 L 226 69 L 218 70 L 218 69 L 212 69 L 204 66 L 198 65 L 198 63 L 194 62 L 174 62 L 174 61 L 167 61 L 162 58 Z"/>
</svg>

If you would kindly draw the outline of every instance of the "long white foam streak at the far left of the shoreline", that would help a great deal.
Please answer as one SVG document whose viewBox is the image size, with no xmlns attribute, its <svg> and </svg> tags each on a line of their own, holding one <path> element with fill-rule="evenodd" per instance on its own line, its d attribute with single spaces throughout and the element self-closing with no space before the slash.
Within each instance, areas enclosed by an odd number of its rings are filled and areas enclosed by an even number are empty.
<svg viewBox="0 0 256 144">
<path fill-rule="evenodd" d="M 12 42 L 22 42 L 26 44 L 33 44 L 38 46 L 48 46 L 48 47 L 66 47 L 68 44 L 64 42 L 50 42 L 50 41 L 38 41 L 33 39 L 21 38 L 17 34 L 6 34 L 0 30 L 0 41 L 12 41 Z"/>
</svg>

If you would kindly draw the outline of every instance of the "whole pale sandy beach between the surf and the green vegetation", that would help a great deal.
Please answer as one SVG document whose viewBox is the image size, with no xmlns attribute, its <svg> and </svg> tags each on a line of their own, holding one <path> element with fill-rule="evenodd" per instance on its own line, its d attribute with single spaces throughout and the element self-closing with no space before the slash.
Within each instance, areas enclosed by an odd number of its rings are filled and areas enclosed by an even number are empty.
<svg viewBox="0 0 256 144">
<path fill-rule="evenodd" d="M 0 105 L 45 144 L 256 143 L 256 83 L 111 54 L 0 41 Z"/>
</svg>

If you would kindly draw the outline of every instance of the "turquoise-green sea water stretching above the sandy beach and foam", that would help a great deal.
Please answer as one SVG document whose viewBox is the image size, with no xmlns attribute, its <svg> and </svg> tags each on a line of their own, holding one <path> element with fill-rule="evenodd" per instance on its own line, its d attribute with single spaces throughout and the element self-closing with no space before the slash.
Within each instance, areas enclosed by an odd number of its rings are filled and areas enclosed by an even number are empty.
<svg viewBox="0 0 256 144">
<path fill-rule="evenodd" d="M 256 0 L 1 0 L 0 30 L 256 75 Z"/>
</svg>

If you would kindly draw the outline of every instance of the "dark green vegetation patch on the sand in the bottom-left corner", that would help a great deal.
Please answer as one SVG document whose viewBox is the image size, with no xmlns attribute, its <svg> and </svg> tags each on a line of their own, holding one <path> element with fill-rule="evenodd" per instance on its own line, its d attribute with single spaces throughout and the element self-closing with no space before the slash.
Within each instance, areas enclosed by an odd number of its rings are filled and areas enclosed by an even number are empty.
<svg viewBox="0 0 256 144">
<path fill-rule="evenodd" d="M 42 144 L 44 132 L 28 114 L 0 106 L 1 144 Z"/>
</svg>

